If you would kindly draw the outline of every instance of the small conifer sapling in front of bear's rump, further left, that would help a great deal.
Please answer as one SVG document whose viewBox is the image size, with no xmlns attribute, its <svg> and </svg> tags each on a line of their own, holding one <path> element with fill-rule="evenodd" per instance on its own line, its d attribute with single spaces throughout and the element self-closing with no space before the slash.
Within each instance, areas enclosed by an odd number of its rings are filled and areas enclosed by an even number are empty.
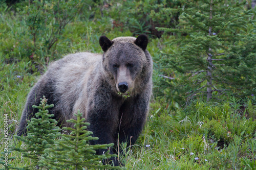
<svg viewBox="0 0 256 170">
<path fill-rule="evenodd" d="M 56 137 L 60 135 L 60 129 L 56 127 L 57 121 L 51 118 L 54 115 L 49 114 L 47 110 L 54 105 L 48 105 L 45 96 L 40 100 L 41 104 L 39 106 L 32 106 L 37 108 L 39 112 L 35 113 L 36 118 L 28 120 L 27 136 L 15 136 L 18 140 L 23 141 L 27 148 L 14 148 L 13 150 L 22 153 L 24 157 L 32 159 L 33 162 L 31 165 L 24 167 L 24 169 L 38 168 L 38 161 L 41 156 L 48 155 L 45 150 L 52 148 Z"/>
</svg>

